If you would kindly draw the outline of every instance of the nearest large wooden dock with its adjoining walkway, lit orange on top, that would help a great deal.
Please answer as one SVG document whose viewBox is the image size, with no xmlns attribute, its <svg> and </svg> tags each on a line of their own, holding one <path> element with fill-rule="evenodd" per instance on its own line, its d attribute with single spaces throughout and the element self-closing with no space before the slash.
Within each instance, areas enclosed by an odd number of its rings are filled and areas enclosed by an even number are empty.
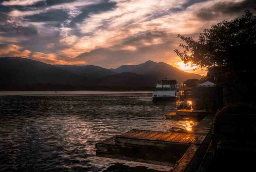
<svg viewBox="0 0 256 172">
<path fill-rule="evenodd" d="M 185 169 L 211 130 L 213 116 L 205 117 L 190 132 L 133 129 L 96 144 L 99 157 Z"/>
</svg>

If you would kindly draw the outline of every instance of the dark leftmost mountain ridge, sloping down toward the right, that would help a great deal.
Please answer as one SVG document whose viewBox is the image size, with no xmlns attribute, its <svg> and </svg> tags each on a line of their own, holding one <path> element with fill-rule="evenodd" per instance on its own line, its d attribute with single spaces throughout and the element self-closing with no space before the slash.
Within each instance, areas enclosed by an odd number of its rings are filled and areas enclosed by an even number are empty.
<svg viewBox="0 0 256 172">
<path fill-rule="evenodd" d="M 21 57 L 0 58 L 0 84 L 37 84 L 77 82 L 76 75 L 54 65 Z"/>
</svg>

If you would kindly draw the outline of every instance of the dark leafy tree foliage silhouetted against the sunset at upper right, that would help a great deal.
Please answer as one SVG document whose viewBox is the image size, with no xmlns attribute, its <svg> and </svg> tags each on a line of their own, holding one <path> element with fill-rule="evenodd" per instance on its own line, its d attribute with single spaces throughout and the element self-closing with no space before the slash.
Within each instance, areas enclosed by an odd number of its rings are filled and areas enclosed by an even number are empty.
<svg viewBox="0 0 256 172">
<path fill-rule="evenodd" d="M 175 50 L 184 63 L 201 68 L 245 69 L 252 64 L 256 50 L 256 16 L 247 10 L 241 18 L 219 22 L 204 29 L 198 41 L 180 34 L 178 37 L 186 43 L 180 44 L 183 51 Z"/>
</svg>

